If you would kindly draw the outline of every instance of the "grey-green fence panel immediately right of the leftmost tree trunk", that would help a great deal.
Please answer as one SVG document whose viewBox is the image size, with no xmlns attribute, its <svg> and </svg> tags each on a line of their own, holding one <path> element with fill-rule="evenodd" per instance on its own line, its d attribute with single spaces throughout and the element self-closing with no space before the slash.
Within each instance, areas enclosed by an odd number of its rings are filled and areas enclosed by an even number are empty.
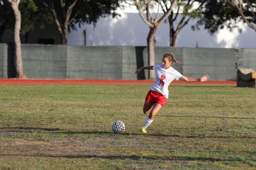
<svg viewBox="0 0 256 170">
<path fill-rule="evenodd" d="M 22 44 L 22 60 L 28 78 L 66 78 L 65 45 Z"/>
</svg>

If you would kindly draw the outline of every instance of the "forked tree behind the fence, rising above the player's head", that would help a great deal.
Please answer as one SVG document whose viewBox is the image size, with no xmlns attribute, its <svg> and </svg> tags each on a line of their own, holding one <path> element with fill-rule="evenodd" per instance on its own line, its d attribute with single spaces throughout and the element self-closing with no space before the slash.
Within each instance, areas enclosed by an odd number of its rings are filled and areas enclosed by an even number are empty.
<svg viewBox="0 0 256 170">
<path fill-rule="evenodd" d="M 157 0 L 156 0 L 157 1 Z M 166 14 L 170 8 L 167 5 L 168 0 L 161 0 L 160 5 Z M 201 18 L 203 5 L 205 4 L 206 0 L 179 0 L 177 3 L 177 11 L 176 14 L 174 13 L 174 9 L 172 10 L 171 14 L 168 16 L 170 31 L 170 46 L 176 45 L 176 38 L 178 33 L 184 28 L 191 18 Z M 198 6 L 194 8 L 195 4 Z M 175 28 L 174 22 L 178 20 L 178 15 L 182 14 L 181 19 L 178 21 L 178 25 Z"/>
</svg>

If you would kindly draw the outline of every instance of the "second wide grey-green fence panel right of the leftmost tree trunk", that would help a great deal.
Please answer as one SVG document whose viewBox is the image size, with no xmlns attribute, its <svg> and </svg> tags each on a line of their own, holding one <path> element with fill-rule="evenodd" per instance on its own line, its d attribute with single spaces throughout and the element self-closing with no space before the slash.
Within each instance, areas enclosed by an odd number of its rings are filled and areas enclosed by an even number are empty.
<svg viewBox="0 0 256 170">
<path fill-rule="evenodd" d="M 122 48 L 68 46 L 67 78 L 122 79 Z"/>
</svg>

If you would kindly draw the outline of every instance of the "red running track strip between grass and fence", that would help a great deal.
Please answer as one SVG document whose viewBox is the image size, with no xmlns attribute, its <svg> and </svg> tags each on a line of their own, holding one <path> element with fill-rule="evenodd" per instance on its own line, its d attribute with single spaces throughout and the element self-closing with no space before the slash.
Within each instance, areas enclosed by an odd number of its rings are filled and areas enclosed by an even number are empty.
<svg viewBox="0 0 256 170">
<path fill-rule="evenodd" d="M 87 80 L 87 79 L 0 79 L 0 85 L 18 84 L 153 84 L 154 80 Z M 184 81 L 173 81 L 172 84 L 188 84 Z M 236 81 L 207 81 L 192 84 L 230 84 Z"/>
</svg>

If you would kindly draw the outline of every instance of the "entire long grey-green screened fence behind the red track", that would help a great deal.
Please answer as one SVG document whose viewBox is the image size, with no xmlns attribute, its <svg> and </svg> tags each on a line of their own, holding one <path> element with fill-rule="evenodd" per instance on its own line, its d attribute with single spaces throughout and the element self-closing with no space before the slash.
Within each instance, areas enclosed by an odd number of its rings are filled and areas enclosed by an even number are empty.
<svg viewBox="0 0 256 170">
<path fill-rule="evenodd" d="M 172 66 L 181 74 L 211 80 L 236 80 L 236 68 L 256 70 L 256 49 L 210 49 L 156 47 L 156 64 L 165 53 L 174 54 Z M 24 72 L 28 78 L 122 79 L 148 78 L 148 70 L 134 74 L 148 65 L 147 47 L 66 46 L 22 44 Z M 0 44 L 0 78 L 14 78 L 14 47 Z"/>
</svg>

